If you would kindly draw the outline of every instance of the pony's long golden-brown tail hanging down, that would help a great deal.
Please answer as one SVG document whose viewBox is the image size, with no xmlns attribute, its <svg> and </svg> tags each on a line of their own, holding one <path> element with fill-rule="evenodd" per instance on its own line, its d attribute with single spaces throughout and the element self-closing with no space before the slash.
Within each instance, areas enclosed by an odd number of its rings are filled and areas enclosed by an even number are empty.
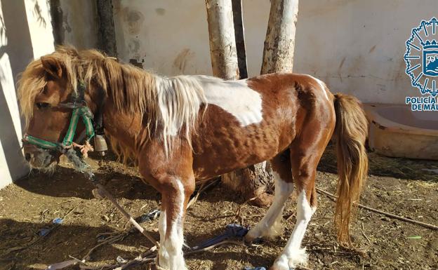
<svg viewBox="0 0 438 270">
<path fill-rule="evenodd" d="M 338 241 L 352 246 L 350 220 L 354 213 L 354 202 L 359 201 L 362 185 L 368 172 L 365 140 L 368 121 L 361 103 L 351 95 L 335 95 L 336 155 L 338 158 L 338 199 L 336 201 L 335 224 Z"/>
</svg>

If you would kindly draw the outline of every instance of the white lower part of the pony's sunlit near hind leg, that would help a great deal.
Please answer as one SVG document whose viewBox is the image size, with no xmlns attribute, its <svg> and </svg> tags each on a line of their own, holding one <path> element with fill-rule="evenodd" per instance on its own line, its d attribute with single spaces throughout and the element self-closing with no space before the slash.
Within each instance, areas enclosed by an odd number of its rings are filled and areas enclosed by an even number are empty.
<svg viewBox="0 0 438 270">
<path fill-rule="evenodd" d="M 295 268 L 298 264 L 305 265 L 307 263 L 307 254 L 305 248 L 301 248 L 301 241 L 303 241 L 307 224 L 309 224 L 315 210 L 316 208 L 310 207 L 305 191 L 302 191 L 297 198 L 295 227 L 283 252 L 275 260 L 274 269 L 290 269 Z"/>
</svg>

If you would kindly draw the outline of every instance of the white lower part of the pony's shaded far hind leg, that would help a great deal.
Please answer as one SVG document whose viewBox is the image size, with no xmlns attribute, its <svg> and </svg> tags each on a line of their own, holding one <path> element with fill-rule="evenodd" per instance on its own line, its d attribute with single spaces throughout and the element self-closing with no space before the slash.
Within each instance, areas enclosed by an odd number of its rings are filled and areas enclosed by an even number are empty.
<svg viewBox="0 0 438 270">
<path fill-rule="evenodd" d="M 248 231 L 246 239 L 252 241 L 255 238 L 266 236 L 272 238 L 283 233 L 281 224 L 281 213 L 283 212 L 284 203 L 293 191 L 293 183 L 287 183 L 281 179 L 280 175 L 272 171 L 275 180 L 275 195 L 271 207 L 267 210 L 266 215 L 258 222 L 253 229 Z"/>
</svg>

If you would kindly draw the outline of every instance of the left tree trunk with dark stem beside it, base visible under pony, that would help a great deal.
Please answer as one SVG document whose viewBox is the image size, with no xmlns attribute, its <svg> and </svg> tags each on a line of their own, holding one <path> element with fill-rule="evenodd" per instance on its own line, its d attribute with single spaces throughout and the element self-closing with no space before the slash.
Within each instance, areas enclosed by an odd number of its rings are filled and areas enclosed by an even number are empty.
<svg viewBox="0 0 438 270">
<path fill-rule="evenodd" d="M 241 0 L 233 1 L 234 3 L 232 0 L 206 0 L 213 75 L 227 80 L 239 79 L 239 70 L 245 78 L 247 76 Z M 240 37 L 239 61 L 235 36 Z M 272 196 L 266 194 L 270 178 L 263 164 L 257 164 L 227 173 L 222 180 L 225 186 L 237 191 L 245 200 L 255 198 L 251 203 L 262 206 L 272 202 Z"/>
</svg>

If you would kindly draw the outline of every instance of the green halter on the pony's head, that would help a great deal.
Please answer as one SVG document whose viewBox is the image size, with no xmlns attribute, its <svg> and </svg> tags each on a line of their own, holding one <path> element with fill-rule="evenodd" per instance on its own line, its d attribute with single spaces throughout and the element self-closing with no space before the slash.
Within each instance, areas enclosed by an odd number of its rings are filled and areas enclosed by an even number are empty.
<svg viewBox="0 0 438 270">
<path fill-rule="evenodd" d="M 69 128 L 67 130 L 67 134 L 65 134 L 64 140 L 62 142 L 49 142 L 47 140 L 43 140 L 32 135 L 25 134 L 23 137 L 23 142 L 27 142 L 29 144 L 34 144 L 37 147 L 41 147 L 43 149 L 51 149 L 58 151 L 65 151 L 65 149 L 72 147 L 73 138 L 76 134 L 77 123 L 79 121 L 79 117 L 84 122 L 85 130 L 86 130 L 86 141 L 90 141 L 94 136 L 94 128 L 91 119 L 93 119 L 93 114 L 90 109 L 86 106 L 84 100 L 84 92 L 85 86 L 84 83 L 79 83 L 79 93 L 75 93 L 72 97 L 72 102 L 61 103 L 58 107 L 73 109 L 72 117 L 70 119 Z"/>
</svg>

